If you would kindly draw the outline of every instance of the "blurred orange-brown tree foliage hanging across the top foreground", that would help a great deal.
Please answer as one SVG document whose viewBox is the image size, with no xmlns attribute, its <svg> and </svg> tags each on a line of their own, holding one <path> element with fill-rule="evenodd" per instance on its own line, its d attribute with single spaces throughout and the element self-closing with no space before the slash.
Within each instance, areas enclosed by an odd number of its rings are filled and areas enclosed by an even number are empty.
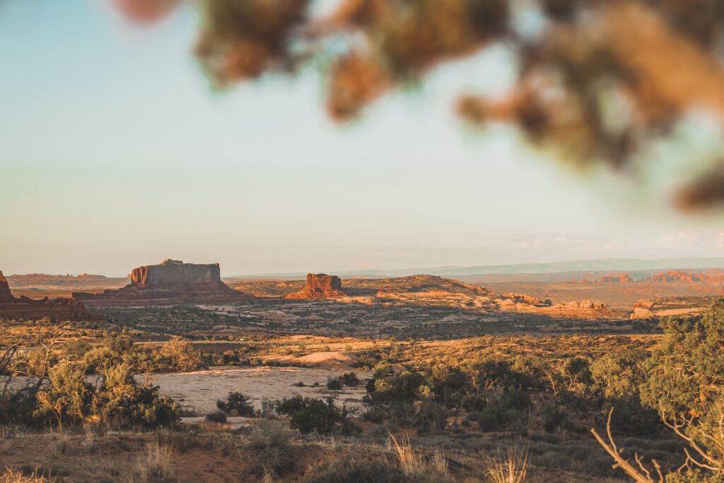
<svg viewBox="0 0 724 483">
<path fill-rule="evenodd" d="M 142 22 L 182 0 L 117 0 Z M 327 111 L 352 119 L 445 62 L 504 46 L 518 79 L 494 96 L 461 93 L 476 125 L 510 122 L 538 146 L 616 169 L 670 135 L 692 109 L 724 115 L 720 1 L 201 0 L 195 56 L 216 85 L 293 73 L 319 59 Z M 473 80 L 474 82 L 474 80 Z M 719 160 L 713 160 L 719 161 Z M 724 163 L 678 193 L 684 207 L 724 200 Z"/>
</svg>

